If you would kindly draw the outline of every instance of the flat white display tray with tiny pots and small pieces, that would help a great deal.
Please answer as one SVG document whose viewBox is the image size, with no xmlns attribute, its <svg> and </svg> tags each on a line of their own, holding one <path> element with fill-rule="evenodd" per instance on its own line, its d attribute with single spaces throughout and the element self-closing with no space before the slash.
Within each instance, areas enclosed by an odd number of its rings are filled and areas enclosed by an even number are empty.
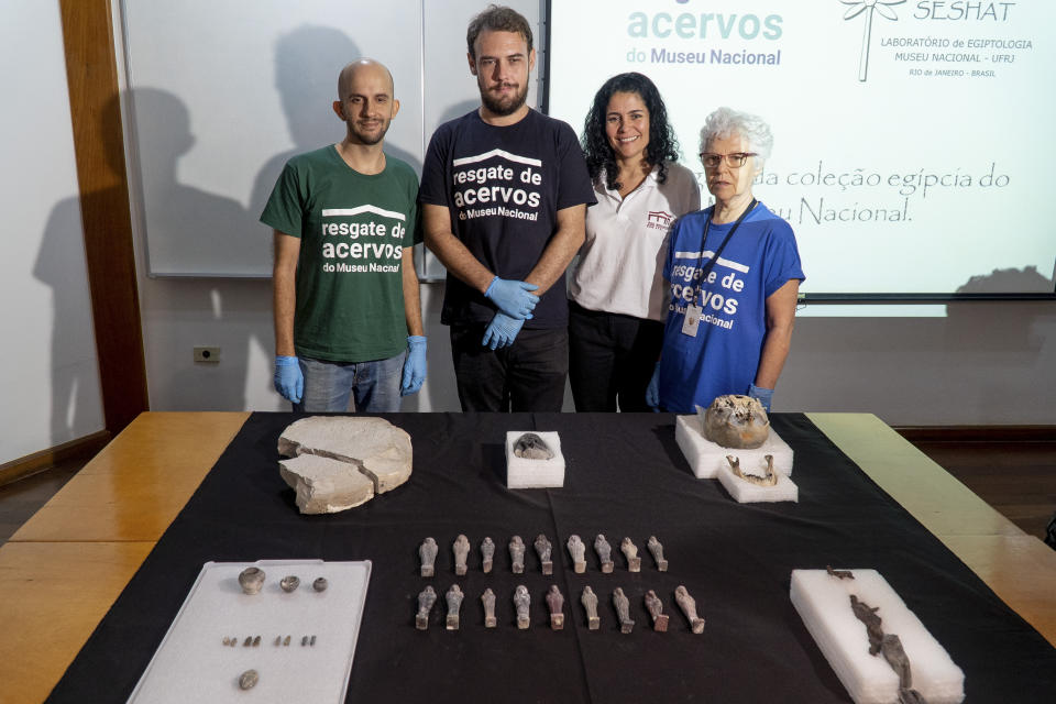
<svg viewBox="0 0 1056 704">
<path fill-rule="evenodd" d="M 248 566 L 266 573 L 257 594 L 239 585 Z M 289 593 L 279 586 L 286 575 L 300 579 Z M 312 587 L 320 576 L 322 592 Z M 343 702 L 370 578 L 366 560 L 206 562 L 129 703 Z M 257 636 L 260 645 L 244 645 Z M 314 646 L 301 645 L 306 636 Z M 248 670 L 258 675 L 249 692 L 239 688 Z"/>
</svg>

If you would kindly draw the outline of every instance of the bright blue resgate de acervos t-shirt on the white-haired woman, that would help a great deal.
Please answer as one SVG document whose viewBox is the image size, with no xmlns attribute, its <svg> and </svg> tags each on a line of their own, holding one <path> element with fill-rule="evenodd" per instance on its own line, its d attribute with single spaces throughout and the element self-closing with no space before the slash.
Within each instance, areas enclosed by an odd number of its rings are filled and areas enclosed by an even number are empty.
<svg viewBox="0 0 1056 704">
<path fill-rule="evenodd" d="M 803 279 L 795 235 L 761 202 L 745 217 L 700 286 L 701 271 L 734 223 L 705 226 L 707 208 L 682 217 L 671 230 L 663 266 L 670 282 L 668 319 L 660 355 L 660 405 L 693 413 L 716 396 L 745 394 L 756 378 L 767 332 L 767 297 L 787 282 Z M 682 332 L 686 306 L 703 309 L 696 336 Z"/>
</svg>

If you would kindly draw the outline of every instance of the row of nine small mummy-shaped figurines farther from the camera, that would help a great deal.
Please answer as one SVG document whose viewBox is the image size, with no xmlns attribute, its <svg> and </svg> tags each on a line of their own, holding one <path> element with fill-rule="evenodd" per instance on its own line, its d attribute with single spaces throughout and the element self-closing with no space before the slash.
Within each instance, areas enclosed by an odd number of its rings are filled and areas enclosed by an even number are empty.
<svg viewBox="0 0 1056 704">
<path fill-rule="evenodd" d="M 539 564 L 542 573 L 553 574 L 553 548 L 550 544 L 550 540 L 543 534 L 539 534 L 534 544 L 536 554 L 539 556 Z M 566 547 L 569 554 L 572 556 L 572 566 L 576 574 L 586 572 L 586 544 L 584 544 L 583 539 L 576 535 L 570 536 Z M 668 561 L 663 558 L 663 546 L 660 544 L 657 537 L 649 536 L 646 547 L 648 547 L 649 552 L 652 553 L 652 559 L 657 563 L 657 570 L 667 572 Z M 460 535 L 455 538 L 451 549 L 454 553 L 454 573 L 460 576 L 464 575 L 466 573 L 466 558 L 470 554 L 469 538 Z M 598 534 L 594 539 L 594 551 L 597 553 L 601 562 L 602 572 L 606 574 L 612 572 L 614 568 L 613 547 L 603 534 Z M 638 548 L 630 538 L 623 539 L 619 543 L 619 551 L 623 552 L 627 559 L 627 570 L 629 572 L 641 571 L 641 558 L 638 557 Z M 437 541 L 432 538 L 426 538 L 421 542 L 421 546 L 418 547 L 418 557 L 421 559 L 421 576 L 433 576 L 436 574 L 435 564 L 438 552 Z M 514 574 L 522 574 L 525 571 L 525 541 L 521 540 L 520 536 L 510 538 L 509 557 L 513 562 Z M 484 538 L 484 541 L 481 542 L 481 569 L 485 574 L 492 571 L 494 558 L 495 543 L 491 538 Z"/>
</svg>

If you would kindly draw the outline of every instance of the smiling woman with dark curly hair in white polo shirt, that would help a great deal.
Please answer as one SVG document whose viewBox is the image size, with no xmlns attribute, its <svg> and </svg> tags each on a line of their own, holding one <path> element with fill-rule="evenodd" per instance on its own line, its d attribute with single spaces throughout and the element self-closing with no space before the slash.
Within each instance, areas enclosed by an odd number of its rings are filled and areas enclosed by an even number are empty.
<svg viewBox="0 0 1056 704">
<path fill-rule="evenodd" d="M 569 285 L 569 380 L 581 411 L 647 411 L 646 386 L 663 342 L 668 231 L 701 207 L 696 177 L 660 92 L 630 73 L 605 81 L 584 125 L 597 205 Z"/>
</svg>

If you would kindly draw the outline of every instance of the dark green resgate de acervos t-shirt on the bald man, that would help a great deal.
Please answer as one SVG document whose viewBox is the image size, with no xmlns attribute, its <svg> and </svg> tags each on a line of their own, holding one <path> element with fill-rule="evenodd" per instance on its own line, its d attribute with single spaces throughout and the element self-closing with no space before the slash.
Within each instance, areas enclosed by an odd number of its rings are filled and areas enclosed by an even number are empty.
<svg viewBox="0 0 1056 704">
<path fill-rule="evenodd" d="M 261 222 L 300 239 L 294 346 L 300 356 L 367 362 L 407 346 L 402 263 L 421 241 L 418 178 L 385 157 L 381 174 L 349 167 L 334 145 L 293 157 Z"/>
</svg>

